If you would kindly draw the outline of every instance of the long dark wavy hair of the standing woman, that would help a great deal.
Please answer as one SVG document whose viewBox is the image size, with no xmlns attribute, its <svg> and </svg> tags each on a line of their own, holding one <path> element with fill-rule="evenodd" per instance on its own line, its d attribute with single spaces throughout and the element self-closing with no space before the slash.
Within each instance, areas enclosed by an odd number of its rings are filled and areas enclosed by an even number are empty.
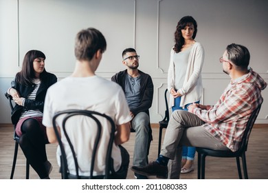
<svg viewBox="0 0 268 193">
<path fill-rule="evenodd" d="M 184 44 L 184 38 L 181 35 L 181 30 L 183 30 L 186 26 L 190 26 L 190 24 L 194 25 L 194 34 L 192 34 L 192 39 L 194 39 L 197 35 L 197 21 L 195 21 L 192 16 L 181 18 L 177 24 L 175 32 L 175 45 L 173 48 L 176 53 L 180 52 L 182 45 Z"/>
</svg>

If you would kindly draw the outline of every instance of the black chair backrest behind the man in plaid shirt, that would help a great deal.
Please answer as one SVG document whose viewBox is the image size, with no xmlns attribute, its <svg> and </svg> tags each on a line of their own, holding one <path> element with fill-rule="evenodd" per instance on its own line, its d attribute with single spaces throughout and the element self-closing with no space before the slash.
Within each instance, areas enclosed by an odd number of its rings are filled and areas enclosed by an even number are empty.
<svg viewBox="0 0 268 193">
<path fill-rule="evenodd" d="M 254 123 L 257 119 L 258 113 L 260 112 L 260 108 L 262 105 L 263 101 L 258 105 L 256 110 L 252 112 L 252 114 L 249 117 L 249 121 L 247 121 L 247 127 L 245 128 L 245 132 L 243 134 L 243 139 L 241 141 L 241 145 L 238 151 L 247 151 L 247 144 L 249 142 L 249 135 L 252 132 L 252 128 L 254 126 Z"/>
</svg>

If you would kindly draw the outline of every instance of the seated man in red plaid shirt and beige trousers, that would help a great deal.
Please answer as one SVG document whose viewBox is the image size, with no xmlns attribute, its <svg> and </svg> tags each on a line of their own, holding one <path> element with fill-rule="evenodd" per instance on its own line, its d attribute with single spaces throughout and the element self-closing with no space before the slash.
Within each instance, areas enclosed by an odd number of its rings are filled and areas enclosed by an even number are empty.
<svg viewBox="0 0 268 193">
<path fill-rule="evenodd" d="M 236 152 L 249 116 L 263 101 L 260 92 L 267 86 L 259 74 L 248 68 L 249 58 L 245 46 L 227 45 L 220 62 L 231 82 L 216 105 L 193 103 L 188 112 L 173 112 L 157 160 L 131 170 L 146 176 L 179 179 L 183 145 Z"/>
</svg>

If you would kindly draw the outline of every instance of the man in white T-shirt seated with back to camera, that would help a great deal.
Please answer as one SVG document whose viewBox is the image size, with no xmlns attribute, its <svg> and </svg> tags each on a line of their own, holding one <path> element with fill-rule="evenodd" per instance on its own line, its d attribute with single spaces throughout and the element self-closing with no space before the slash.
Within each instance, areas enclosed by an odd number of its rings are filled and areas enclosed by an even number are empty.
<svg viewBox="0 0 268 193">
<path fill-rule="evenodd" d="M 122 88 L 107 79 L 95 74 L 102 59 L 107 43 L 102 33 L 95 28 L 81 30 L 76 35 L 75 55 L 76 66 L 70 77 L 67 77 L 53 87 L 50 87 L 45 97 L 43 124 L 47 127 L 50 143 L 56 143 L 56 134 L 52 125 L 52 118 L 58 111 L 68 109 L 93 110 L 110 116 L 115 122 L 116 133 L 111 156 L 115 174 L 111 179 L 126 179 L 129 167 L 129 153 L 121 146 L 129 140 L 130 128 L 129 107 Z M 73 121 L 74 122 L 74 121 Z M 78 157 L 79 174 L 82 179 L 88 179 L 91 163 L 92 147 L 86 141 L 96 136 L 94 130 L 89 130 L 86 119 L 72 123 L 74 130 L 67 130 L 73 140 L 74 149 Z M 107 143 L 109 142 L 109 125 L 106 119 L 100 120 L 103 126 L 100 145 L 93 174 L 104 175 Z M 71 124 L 70 123 L 70 124 Z M 59 124 L 60 125 L 60 124 Z M 69 125 L 69 123 L 68 123 Z M 78 130 L 78 126 L 79 130 Z M 80 132 L 78 132 L 80 131 Z M 60 128 L 63 133 L 62 128 Z M 67 145 L 65 135 L 61 136 L 63 145 Z M 71 150 L 66 150 L 69 173 L 76 175 L 74 159 Z M 58 165 L 60 165 L 60 149 L 57 150 Z M 84 177 L 85 176 L 85 177 Z"/>
</svg>

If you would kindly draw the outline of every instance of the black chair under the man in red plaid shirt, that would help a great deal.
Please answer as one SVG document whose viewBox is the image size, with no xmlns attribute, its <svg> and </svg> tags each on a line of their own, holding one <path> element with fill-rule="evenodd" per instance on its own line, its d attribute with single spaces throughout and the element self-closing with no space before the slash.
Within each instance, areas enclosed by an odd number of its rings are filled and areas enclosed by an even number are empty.
<svg viewBox="0 0 268 193">
<path fill-rule="evenodd" d="M 197 148 L 198 153 L 198 171 L 197 178 L 205 179 L 205 157 L 206 156 L 214 156 L 214 157 L 236 157 L 236 165 L 238 170 L 239 179 L 242 179 L 241 174 L 241 165 L 240 165 L 240 157 L 242 158 L 243 163 L 243 171 L 245 179 L 248 179 L 247 175 L 247 163 L 245 152 L 247 151 L 247 144 L 249 141 L 249 135 L 252 131 L 253 125 L 258 116 L 258 112 L 260 112 L 261 104 L 252 112 L 252 115 L 249 117 L 249 121 L 247 122 L 247 127 L 245 128 L 245 132 L 243 134 L 243 139 L 241 141 L 240 148 L 236 152 L 232 152 L 231 150 L 211 150 L 208 148 Z"/>
</svg>

